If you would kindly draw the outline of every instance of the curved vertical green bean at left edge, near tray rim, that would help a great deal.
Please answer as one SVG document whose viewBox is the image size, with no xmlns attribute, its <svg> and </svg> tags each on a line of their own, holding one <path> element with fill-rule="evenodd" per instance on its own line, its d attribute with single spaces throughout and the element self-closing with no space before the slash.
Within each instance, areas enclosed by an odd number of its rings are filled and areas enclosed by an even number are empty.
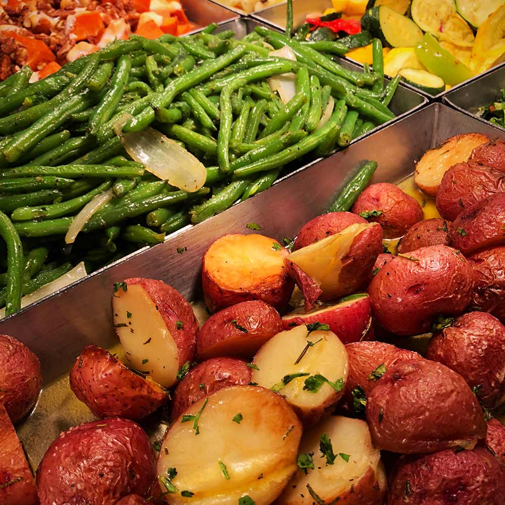
<svg viewBox="0 0 505 505">
<path fill-rule="evenodd" d="M 7 287 L 5 291 L 6 316 L 21 309 L 23 286 L 23 245 L 12 221 L 0 211 L 0 236 L 7 245 Z"/>
</svg>

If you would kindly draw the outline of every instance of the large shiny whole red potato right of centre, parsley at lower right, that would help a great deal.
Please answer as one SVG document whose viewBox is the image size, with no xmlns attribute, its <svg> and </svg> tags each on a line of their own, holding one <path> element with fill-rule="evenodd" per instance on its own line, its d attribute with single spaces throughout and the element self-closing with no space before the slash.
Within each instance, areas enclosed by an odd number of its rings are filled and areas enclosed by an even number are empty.
<svg viewBox="0 0 505 505">
<path fill-rule="evenodd" d="M 368 294 L 382 327 L 396 335 L 420 335 L 430 331 L 437 315 L 465 310 L 473 294 L 472 268 L 451 247 L 421 247 L 381 268 Z"/>
</svg>

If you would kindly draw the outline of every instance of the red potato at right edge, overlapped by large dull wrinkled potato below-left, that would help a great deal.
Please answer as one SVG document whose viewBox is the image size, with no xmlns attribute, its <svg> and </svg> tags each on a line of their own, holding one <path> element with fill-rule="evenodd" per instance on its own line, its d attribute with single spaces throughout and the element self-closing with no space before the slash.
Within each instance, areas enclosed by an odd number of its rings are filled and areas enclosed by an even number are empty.
<svg viewBox="0 0 505 505">
<path fill-rule="evenodd" d="M 469 312 L 433 334 L 426 358 L 459 373 L 481 405 L 505 400 L 505 326 L 485 312 Z"/>
</svg>

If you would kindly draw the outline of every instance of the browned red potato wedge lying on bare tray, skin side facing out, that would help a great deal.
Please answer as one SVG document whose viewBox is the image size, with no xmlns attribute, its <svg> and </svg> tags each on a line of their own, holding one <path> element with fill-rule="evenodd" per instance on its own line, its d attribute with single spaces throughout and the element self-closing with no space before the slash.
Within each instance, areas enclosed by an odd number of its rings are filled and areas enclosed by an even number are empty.
<svg viewBox="0 0 505 505">
<path fill-rule="evenodd" d="M 88 345 L 70 371 L 70 388 L 100 418 L 139 420 L 169 399 L 163 388 L 126 368 L 110 352 Z"/>
</svg>

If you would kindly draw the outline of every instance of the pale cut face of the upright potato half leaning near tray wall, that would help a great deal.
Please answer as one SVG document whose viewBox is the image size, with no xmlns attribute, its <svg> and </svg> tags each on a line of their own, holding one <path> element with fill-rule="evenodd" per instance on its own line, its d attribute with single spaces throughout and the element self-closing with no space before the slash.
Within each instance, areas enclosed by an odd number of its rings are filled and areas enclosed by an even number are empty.
<svg viewBox="0 0 505 505">
<path fill-rule="evenodd" d="M 173 385 L 180 368 L 177 344 L 145 289 L 140 285 L 119 289 L 113 297 L 113 313 L 129 364 L 149 372 L 163 387 Z"/>
</svg>

